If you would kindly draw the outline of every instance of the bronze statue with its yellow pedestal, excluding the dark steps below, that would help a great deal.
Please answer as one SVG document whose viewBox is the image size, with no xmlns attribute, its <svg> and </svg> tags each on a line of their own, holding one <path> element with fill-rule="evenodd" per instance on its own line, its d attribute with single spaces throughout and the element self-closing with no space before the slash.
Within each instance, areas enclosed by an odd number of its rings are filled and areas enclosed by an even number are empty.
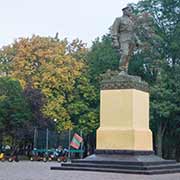
<svg viewBox="0 0 180 180">
<path fill-rule="evenodd" d="M 142 16 L 135 18 L 131 6 L 122 11 L 123 16 L 116 18 L 111 26 L 113 47 L 121 57 L 120 73 L 109 70 L 101 82 L 97 149 L 152 151 L 148 84 L 127 73 L 130 57 L 141 44 L 136 26 Z"/>
</svg>

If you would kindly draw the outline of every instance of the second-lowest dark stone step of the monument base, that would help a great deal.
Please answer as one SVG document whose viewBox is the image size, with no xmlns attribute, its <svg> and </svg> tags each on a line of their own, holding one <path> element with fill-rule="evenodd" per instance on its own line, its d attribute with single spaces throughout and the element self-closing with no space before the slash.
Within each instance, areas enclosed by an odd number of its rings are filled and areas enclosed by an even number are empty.
<svg viewBox="0 0 180 180">
<path fill-rule="evenodd" d="M 113 168 L 113 169 L 134 169 L 134 170 L 156 170 L 156 169 L 180 169 L 180 163 L 175 164 L 158 164 L 151 166 L 142 165 L 122 165 L 122 164 L 95 164 L 95 163 L 63 163 L 64 167 L 93 167 L 93 168 Z"/>
</svg>

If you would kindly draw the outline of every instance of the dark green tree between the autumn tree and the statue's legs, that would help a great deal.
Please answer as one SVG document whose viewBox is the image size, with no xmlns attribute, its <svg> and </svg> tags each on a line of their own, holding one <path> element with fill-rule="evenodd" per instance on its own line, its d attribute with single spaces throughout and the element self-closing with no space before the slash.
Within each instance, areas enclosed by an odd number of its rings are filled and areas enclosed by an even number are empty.
<svg viewBox="0 0 180 180">
<path fill-rule="evenodd" d="M 108 69 L 117 70 L 119 57 L 112 47 L 110 35 L 104 35 L 100 40 L 97 38 L 87 55 L 90 79 L 93 84 L 99 88 L 100 74 Z"/>
</svg>

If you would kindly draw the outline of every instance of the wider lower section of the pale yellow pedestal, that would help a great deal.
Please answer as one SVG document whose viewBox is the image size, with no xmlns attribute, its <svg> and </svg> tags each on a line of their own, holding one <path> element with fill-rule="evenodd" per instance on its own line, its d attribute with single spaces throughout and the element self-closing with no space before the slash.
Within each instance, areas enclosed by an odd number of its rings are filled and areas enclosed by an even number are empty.
<svg viewBox="0 0 180 180">
<path fill-rule="evenodd" d="M 102 128 L 97 133 L 97 148 L 114 150 L 152 151 L 149 129 Z"/>
</svg>

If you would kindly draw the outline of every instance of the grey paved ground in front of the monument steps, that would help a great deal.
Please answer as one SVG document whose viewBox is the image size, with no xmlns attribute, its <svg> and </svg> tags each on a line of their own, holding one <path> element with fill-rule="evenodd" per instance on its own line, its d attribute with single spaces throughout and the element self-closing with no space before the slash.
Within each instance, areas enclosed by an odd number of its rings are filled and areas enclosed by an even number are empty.
<svg viewBox="0 0 180 180">
<path fill-rule="evenodd" d="M 101 172 L 55 171 L 57 162 L 0 162 L 0 180 L 180 180 L 179 174 L 130 175 Z"/>
</svg>

